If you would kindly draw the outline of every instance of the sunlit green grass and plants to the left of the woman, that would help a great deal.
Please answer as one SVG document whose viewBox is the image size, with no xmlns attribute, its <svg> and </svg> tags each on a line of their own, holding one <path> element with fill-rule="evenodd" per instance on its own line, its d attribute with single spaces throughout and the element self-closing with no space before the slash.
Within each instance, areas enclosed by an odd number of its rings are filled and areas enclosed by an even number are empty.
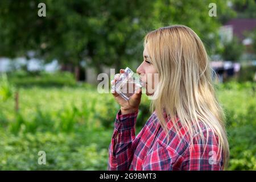
<svg viewBox="0 0 256 182">
<path fill-rule="evenodd" d="M 0 169 L 106 169 L 113 129 L 102 127 L 94 115 L 105 97 L 86 89 L 20 88 L 18 113 L 12 100 L 1 103 Z M 42 166 L 41 150 L 47 155 Z"/>
</svg>

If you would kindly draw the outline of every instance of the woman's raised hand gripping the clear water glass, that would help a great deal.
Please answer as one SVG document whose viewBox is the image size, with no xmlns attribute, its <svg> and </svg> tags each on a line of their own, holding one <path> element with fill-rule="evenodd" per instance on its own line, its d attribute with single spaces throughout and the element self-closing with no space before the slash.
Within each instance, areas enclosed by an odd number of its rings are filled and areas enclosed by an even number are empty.
<svg viewBox="0 0 256 182">
<path fill-rule="evenodd" d="M 120 74 L 124 73 L 124 69 L 120 69 L 120 73 L 116 74 L 114 80 L 111 81 L 111 84 L 114 85 L 117 80 L 119 80 Z M 139 104 L 141 104 L 141 88 L 131 96 L 130 100 L 126 101 L 122 98 L 115 90 L 112 90 L 112 94 L 115 98 L 115 101 L 121 106 L 121 114 L 134 113 L 139 109 Z"/>
</svg>

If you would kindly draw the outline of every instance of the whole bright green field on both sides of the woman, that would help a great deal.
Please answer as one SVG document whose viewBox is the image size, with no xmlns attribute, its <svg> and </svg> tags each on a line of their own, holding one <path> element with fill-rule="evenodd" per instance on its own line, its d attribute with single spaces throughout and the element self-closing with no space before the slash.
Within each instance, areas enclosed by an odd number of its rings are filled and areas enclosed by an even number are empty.
<svg viewBox="0 0 256 182">
<path fill-rule="evenodd" d="M 230 170 L 256 169 L 255 83 L 218 85 L 225 109 L 230 144 Z M 137 133 L 150 113 L 142 98 Z M 19 111 L 14 96 L 0 102 L 0 169 L 104 170 L 119 106 L 111 94 L 89 86 L 19 88 Z M 38 152 L 46 152 L 46 165 Z"/>
</svg>

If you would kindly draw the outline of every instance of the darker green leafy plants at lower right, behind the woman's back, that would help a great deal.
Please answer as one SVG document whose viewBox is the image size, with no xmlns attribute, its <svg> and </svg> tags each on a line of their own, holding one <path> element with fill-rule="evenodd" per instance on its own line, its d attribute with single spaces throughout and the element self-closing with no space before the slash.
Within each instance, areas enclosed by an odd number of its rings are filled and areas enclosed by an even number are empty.
<svg viewBox="0 0 256 182">
<path fill-rule="evenodd" d="M 226 113 L 230 148 L 230 170 L 256 170 L 256 106 L 248 104 L 244 113 L 229 109 Z"/>
</svg>

